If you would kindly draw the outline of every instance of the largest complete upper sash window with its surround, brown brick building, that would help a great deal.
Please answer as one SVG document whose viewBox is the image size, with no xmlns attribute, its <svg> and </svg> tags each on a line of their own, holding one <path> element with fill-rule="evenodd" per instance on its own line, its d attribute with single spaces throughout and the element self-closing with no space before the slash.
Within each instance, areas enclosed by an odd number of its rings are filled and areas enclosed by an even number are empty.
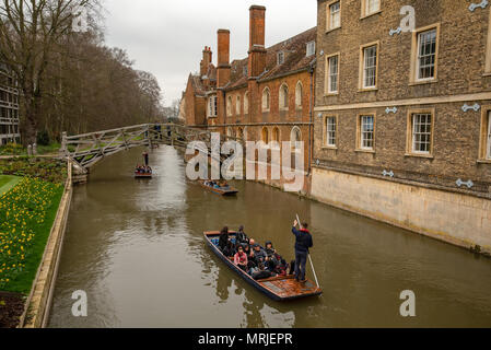
<svg viewBox="0 0 491 350">
<path fill-rule="evenodd" d="M 412 34 L 411 82 L 435 81 L 437 75 L 440 24 Z"/>
</svg>

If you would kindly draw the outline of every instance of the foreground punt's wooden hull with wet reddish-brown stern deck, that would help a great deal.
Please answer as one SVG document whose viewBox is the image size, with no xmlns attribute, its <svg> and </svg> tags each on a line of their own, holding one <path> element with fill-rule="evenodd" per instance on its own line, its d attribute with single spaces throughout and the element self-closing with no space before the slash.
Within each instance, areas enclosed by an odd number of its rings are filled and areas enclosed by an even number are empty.
<svg viewBox="0 0 491 350">
<path fill-rule="evenodd" d="M 220 252 L 218 247 L 218 240 L 220 237 L 219 231 L 204 232 L 207 244 L 213 253 L 227 265 L 232 270 L 238 273 L 247 283 L 258 289 L 274 301 L 290 301 L 301 298 L 320 295 L 323 290 L 315 285 L 311 280 L 301 283 L 297 282 L 293 275 L 271 277 L 262 280 L 255 280 L 248 273 L 238 268 L 231 258 L 227 258 Z M 230 236 L 234 237 L 235 232 L 230 232 Z"/>
</svg>

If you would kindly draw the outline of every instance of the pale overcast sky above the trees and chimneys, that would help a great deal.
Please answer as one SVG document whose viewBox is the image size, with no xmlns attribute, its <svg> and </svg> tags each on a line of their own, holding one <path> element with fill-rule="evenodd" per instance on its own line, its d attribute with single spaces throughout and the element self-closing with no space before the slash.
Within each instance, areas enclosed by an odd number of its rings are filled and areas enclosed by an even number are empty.
<svg viewBox="0 0 491 350">
<path fill-rule="evenodd" d="M 168 106 L 199 70 L 204 46 L 217 65 L 217 30 L 231 31 L 231 60 L 247 57 L 252 4 L 267 8 L 267 46 L 316 25 L 314 0 L 105 0 L 106 43 L 157 78 Z"/>
</svg>

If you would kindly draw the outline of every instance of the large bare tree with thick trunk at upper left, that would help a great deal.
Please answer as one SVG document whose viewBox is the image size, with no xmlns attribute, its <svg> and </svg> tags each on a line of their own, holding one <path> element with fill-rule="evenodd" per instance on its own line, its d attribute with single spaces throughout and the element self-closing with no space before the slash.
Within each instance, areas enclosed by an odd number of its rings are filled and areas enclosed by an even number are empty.
<svg viewBox="0 0 491 350">
<path fill-rule="evenodd" d="M 46 70 L 66 36 L 75 9 L 96 0 L 1 0 L 0 60 L 15 74 L 24 101 L 24 142 L 33 143 L 42 115 Z"/>
</svg>

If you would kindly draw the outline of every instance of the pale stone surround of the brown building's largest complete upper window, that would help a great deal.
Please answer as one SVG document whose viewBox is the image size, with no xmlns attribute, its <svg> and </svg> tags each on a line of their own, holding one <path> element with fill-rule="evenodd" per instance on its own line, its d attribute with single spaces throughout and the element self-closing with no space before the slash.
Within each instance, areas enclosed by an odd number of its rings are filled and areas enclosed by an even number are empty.
<svg viewBox="0 0 491 350">
<path fill-rule="evenodd" d="M 439 56 L 440 56 L 440 22 L 430 24 L 412 32 L 412 44 L 411 44 L 411 67 L 409 70 L 409 83 L 413 84 L 428 84 L 439 81 Z M 434 77 L 433 78 L 418 78 L 420 68 L 420 35 L 425 32 L 436 31 L 435 37 L 435 62 L 434 62 Z"/>
</svg>

